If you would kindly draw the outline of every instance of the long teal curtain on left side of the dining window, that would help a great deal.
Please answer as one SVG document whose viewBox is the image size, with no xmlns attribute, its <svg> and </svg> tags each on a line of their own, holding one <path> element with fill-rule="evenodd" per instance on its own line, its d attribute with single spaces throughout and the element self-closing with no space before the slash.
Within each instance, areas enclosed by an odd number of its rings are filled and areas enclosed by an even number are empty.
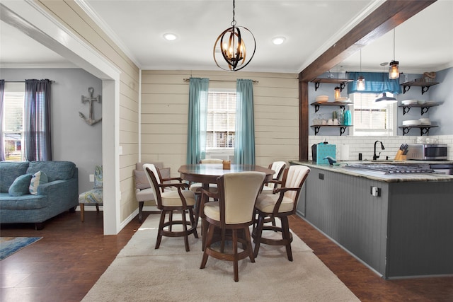
<svg viewBox="0 0 453 302">
<path fill-rule="evenodd" d="M 200 163 L 200 160 L 206 157 L 208 87 L 209 79 L 190 78 L 186 160 L 188 164 Z"/>
</svg>

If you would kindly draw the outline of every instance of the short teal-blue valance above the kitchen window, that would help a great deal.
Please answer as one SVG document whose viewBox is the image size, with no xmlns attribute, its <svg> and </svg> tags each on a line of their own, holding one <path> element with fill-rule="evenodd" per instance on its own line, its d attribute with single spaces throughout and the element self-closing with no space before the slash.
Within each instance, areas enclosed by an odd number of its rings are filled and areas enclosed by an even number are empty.
<svg viewBox="0 0 453 302">
<path fill-rule="evenodd" d="M 365 91 L 357 91 L 357 79 L 365 78 Z M 399 79 L 389 79 L 389 74 L 382 72 L 348 72 L 348 79 L 354 81 L 348 83 L 348 93 L 401 93 Z"/>
</svg>

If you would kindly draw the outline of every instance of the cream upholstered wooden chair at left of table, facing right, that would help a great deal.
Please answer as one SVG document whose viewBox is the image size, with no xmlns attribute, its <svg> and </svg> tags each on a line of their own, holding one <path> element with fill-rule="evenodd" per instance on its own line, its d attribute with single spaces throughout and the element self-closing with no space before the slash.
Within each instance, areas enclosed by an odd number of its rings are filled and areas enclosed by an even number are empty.
<svg viewBox="0 0 453 302">
<path fill-rule="evenodd" d="M 147 172 L 147 178 L 154 192 L 157 209 L 161 211 L 159 220 L 159 230 L 156 238 L 156 246 L 158 249 L 161 245 L 162 236 L 167 237 L 184 237 L 185 251 L 190 251 L 188 236 L 193 234 L 198 238 L 197 223 L 195 223 L 195 215 L 193 206 L 195 205 L 195 193 L 186 190 L 188 184 L 181 182 L 162 183 L 159 170 L 151 163 L 145 163 L 143 170 Z M 175 180 L 176 178 L 173 178 Z M 176 190 L 164 192 L 165 187 L 174 187 Z M 178 211 L 181 214 L 180 220 L 173 220 L 173 212 Z M 168 220 L 166 216 L 168 214 Z M 187 221 L 187 214 L 190 221 Z M 173 230 L 173 226 L 180 225 L 183 231 Z"/>
</svg>

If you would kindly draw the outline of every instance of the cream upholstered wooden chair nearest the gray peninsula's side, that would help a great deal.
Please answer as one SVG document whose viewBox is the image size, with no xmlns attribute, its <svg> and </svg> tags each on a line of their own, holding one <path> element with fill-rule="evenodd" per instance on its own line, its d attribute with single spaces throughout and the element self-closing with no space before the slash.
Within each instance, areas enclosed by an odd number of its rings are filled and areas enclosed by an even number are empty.
<svg viewBox="0 0 453 302">
<path fill-rule="evenodd" d="M 260 194 L 256 199 L 258 221 L 253 223 L 252 231 L 255 243 L 254 257 L 258 257 L 260 243 L 285 245 L 288 260 L 292 261 L 292 234 L 289 231 L 288 216 L 296 213 L 299 194 L 309 173 L 310 168 L 304 165 L 289 165 L 283 173 L 282 186 L 274 190 L 275 194 Z M 272 221 L 275 218 L 280 219 L 281 226 L 265 225 L 269 219 Z M 282 239 L 264 238 L 263 230 L 280 232 Z"/>
</svg>

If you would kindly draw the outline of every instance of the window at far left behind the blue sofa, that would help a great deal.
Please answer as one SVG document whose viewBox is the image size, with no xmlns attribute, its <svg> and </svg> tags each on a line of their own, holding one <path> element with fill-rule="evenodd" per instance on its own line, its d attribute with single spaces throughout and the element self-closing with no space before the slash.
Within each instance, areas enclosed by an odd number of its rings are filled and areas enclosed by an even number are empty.
<svg viewBox="0 0 453 302">
<path fill-rule="evenodd" d="M 23 110 L 25 83 L 5 83 L 3 137 L 6 161 L 24 161 Z"/>
</svg>

